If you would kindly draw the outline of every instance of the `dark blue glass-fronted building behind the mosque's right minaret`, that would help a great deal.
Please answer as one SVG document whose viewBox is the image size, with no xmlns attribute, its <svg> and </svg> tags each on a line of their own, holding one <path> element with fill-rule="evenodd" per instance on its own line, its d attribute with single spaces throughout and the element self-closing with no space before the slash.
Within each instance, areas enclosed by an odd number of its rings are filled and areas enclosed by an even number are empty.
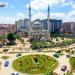
<svg viewBox="0 0 75 75">
<path fill-rule="evenodd" d="M 49 29 L 49 32 L 59 33 L 62 27 L 62 20 L 49 19 L 50 28 L 48 28 L 47 19 L 42 20 L 42 24 L 44 29 Z"/>
</svg>

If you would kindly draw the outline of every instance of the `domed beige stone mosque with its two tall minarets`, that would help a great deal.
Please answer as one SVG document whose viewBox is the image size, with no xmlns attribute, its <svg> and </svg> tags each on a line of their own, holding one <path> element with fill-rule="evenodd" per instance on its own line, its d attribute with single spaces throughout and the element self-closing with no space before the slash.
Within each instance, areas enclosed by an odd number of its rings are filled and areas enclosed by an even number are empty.
<svg viewBox="0 0 75 75">
<path fill-rule="evenodd" d="M 48 28 L 50 27 L 50 22 L 49 22 L 49 6 L 48 6 Z M 31 6 L 29 5 L 29 24 L 30 24 L 30 29 L 28 31 L 28 39 L 29 40 L 37 40 L 37 41 L 48 41 L 50 39 L 50 33 L 48 30 L 45 30 L 41 21 L 39 19 L 31 22 Z"/>
</svg>

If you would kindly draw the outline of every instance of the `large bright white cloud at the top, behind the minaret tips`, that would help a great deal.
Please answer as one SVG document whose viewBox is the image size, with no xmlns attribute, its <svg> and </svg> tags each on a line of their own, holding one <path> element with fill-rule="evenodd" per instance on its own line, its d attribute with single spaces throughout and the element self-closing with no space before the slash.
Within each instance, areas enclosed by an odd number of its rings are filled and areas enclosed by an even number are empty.
<svg viewBox="0 0 75 75">
<path fill-rule="evenodd" d="M 31 0 L 30 5 L 32 10 L 42 10 L 46 9 L 48 4 L 50 6 L 58 6 L 64 3 L 66 3 L 66 0 Z M 26 5 L 26 7 L 28 6 L 29 4 Z"/>
</svg>

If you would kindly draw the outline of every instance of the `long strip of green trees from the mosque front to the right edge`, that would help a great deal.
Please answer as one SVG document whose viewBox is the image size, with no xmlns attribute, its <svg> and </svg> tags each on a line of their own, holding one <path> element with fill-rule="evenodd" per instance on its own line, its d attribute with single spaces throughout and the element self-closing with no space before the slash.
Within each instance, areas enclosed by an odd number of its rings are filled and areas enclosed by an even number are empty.
<svg viewBox="0 0 75 75">
<path fill-rule="evenodd" d="M 51 38 L 51 40 L 49 40 L 48 42 L 40 42 L 40 41 L 34 41 L 32 40 L 31 43 L 31 47 L 33 49 L 39 49 L 39 48 L 54 48 L 54 47 L 64 47 L 64 46 L 68 46 L 71 45 L 73 43 L 75 43 L 75 39 L 71 39 L 71 40 L 64 40 L 64 37 L 60 37 L 62 39 L 62 42 L 59 41 L 58 38 L 56 38 L 56 41 L 58 43 L 55 43 L 53 41 L 53 38 Z"/>
</svg>

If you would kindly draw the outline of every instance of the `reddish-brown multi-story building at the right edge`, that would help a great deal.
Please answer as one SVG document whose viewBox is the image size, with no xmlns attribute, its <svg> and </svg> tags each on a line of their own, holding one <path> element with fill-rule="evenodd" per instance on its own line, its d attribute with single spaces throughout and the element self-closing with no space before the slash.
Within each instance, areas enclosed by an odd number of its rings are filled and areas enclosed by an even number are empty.
<svg viewBox="0 0 75 75">
<path fill-rule="evenodd" d="M 65 22 L 62 25 L 64 33 L 73 33 L 75 34 L 75 22 Z"/>
</svg>

